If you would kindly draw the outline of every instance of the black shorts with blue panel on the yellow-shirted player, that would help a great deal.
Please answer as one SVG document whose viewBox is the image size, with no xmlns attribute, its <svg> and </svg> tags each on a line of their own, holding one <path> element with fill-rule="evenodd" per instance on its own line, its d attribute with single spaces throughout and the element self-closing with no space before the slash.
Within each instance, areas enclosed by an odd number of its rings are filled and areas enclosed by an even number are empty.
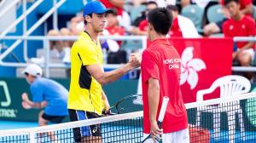
<svg viewBox="0 0 256 143">
<path fill-rule="evenodd" d="M 95 112 L 85 112 L 85 111 L 79 111 L 79 110 L 73 110 L 73 109 L 68 109 L 68 113 L 69 113 L 71 122 L 101 117 Z M 74 128 L 73 136 L 76 142 L 81 142 L 81 138 L 86 136 L 102 136 L 101 124 Z"/>
</svg>

